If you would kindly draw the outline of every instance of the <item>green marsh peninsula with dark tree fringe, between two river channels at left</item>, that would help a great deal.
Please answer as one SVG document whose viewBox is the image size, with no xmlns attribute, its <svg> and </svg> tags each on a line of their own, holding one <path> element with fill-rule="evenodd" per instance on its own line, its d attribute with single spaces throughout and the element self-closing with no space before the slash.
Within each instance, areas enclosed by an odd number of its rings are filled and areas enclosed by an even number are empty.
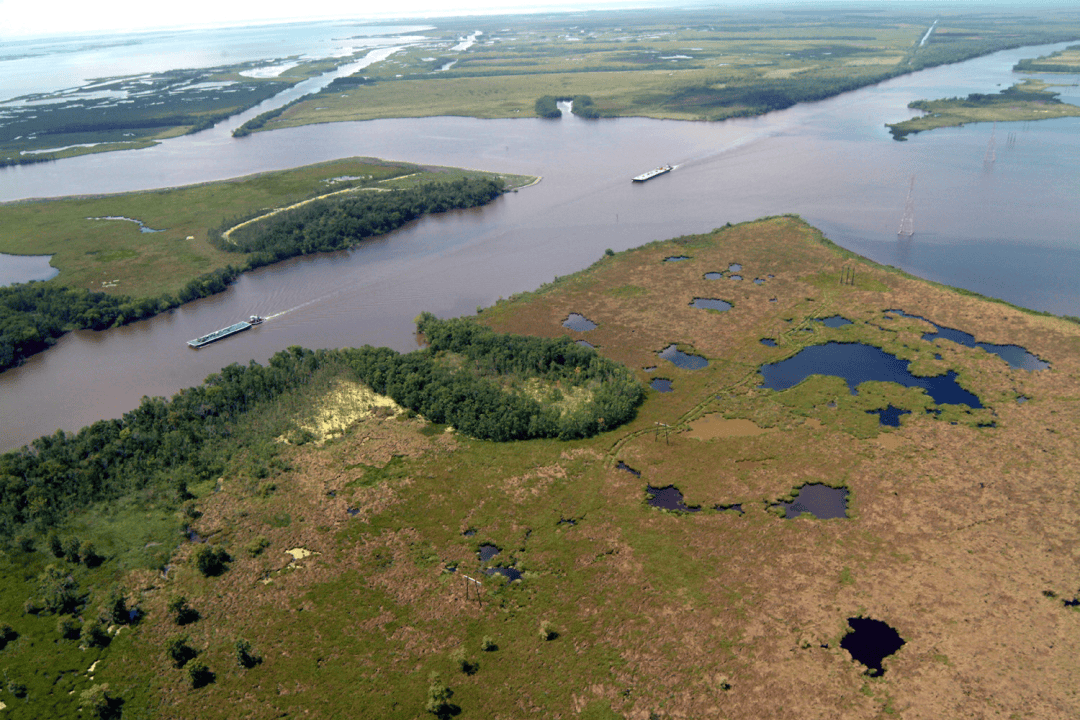
<svg viewBox="0 0 1080 720">
<path fill-rule="evenodd" d="M 530 180 L 350 159 L 167 190 L 0 205 L 0 252 L 50 254 L 60 271 L 0 288 L 0 369 L 68 330 L 148 317 L 220 293 L 246 270 L 349 247 Z M 298 220 L 320 231 L 296 234 Z"/>
</svg>

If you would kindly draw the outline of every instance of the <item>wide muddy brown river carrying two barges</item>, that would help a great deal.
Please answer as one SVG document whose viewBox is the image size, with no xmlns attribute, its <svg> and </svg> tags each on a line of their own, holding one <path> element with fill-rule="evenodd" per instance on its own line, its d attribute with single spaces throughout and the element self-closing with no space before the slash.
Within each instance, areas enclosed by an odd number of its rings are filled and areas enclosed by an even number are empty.
<svg viewBox="0 0 1080 720">
<path fill-rule="evenodd" d="M 0 375 L 0 449 L 119 417 L 143 395 L 170 395 L 292 344 L 408 350 L 423 310 L 472 313 L 580 270 L 608 247 L 781 213 L 798 213 L 838 244 L 922 277 L 1080 315 L 1080 120 L 971 125 L 906 142 L 885 127 L 912 116 L 909 100 L 995 92 L 1016 80 L 1017 59 L 1063 46 L 997 53 L 723 123 L 431 118 L 239 140 L 221 127 L 147 150 L 8 168 L 0 200 L 166 187 L 351 155 L 543 180 L 353 250 L 264 268 L 148 321 L 69 334 Z M 1068 87 L 1063 98 L 1080 101 L 1077 95 Z M 996 159 L 986 162 L 991 133 Z M 630 182 L 664 163 L 675 172 Z M 913 176 L 915 235 L 901 241 Z M 199 351 L 185 345 L 252 313 L 276 316 Z"/>
</svg>

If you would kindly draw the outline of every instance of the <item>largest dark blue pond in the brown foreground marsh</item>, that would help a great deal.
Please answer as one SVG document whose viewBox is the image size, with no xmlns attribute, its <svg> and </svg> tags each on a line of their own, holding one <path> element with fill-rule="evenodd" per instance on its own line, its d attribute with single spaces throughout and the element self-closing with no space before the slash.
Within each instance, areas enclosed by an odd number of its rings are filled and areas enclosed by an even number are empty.
<svg viewBox="0 0 1080 720">
<path fill-rule="evenodd" d="M 761 386 L 787 390 L 811 375 L 828 375 L 843 378 L 852 395 L 858 394 L 855 389 L 860 383 L 877 380 L 896 382 L 905 388 L 922 388 L 939 405 L 983 407 L 978 397 L 957 383 L 954 370 L 932 378 L 918 378 L 907 370 L 909 365 L 908 361 L 862 342 L 827 342 L 805 348 L 780 363 L 762 365 L 765 384 Z"/>
</svg>

